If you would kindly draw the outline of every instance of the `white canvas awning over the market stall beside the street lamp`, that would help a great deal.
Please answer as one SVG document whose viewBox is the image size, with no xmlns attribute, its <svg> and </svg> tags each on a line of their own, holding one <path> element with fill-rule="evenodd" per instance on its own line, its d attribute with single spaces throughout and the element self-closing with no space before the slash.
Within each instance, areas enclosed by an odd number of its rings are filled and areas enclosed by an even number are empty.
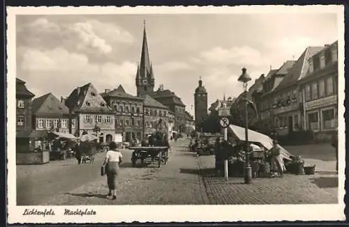
<svg viewBox="0 0 349 227">
<path fill-rule="evenodd" d="M 239 139 L 240 141 L 245 141 L 245 128 L 239 127 L 237 125 L 229 125 L 229 130 L 232 132 L 232 134 L 236 137 L 236 139 Z M 267 150 L 270 150 L 273 147 L 273 139 L 269 136 L 262 134 L 260 132 L 255 132 L 253 130 L 248 130 L 248 141 L 260 143 L 262 146 L 267 148 Z M 280 145 L 279 145 L 280 146 Z M 285 150 L 282 146 L 281 148 L 281 155 L 283 155 L 283 158 L 290 160 L 292 155 L 290 152 Z"/>
</svg>

